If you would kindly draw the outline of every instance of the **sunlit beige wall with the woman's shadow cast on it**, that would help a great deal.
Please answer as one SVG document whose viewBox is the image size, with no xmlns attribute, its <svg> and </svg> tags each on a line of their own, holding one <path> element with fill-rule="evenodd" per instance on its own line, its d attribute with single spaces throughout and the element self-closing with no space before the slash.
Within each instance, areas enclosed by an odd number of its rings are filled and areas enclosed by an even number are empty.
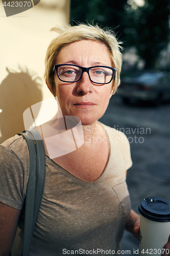
<svg viewBox="0 0 170 256">
<path fill-rule="evenodd" d="M 45 53 L 55 37 L 50 29 L 68 19 L 69 0 L 41 0 L 10 17 L 0 1 L 0 143 L 25 130 L 29 106 L 52 97 L 43 79 Z"/>
</svg>

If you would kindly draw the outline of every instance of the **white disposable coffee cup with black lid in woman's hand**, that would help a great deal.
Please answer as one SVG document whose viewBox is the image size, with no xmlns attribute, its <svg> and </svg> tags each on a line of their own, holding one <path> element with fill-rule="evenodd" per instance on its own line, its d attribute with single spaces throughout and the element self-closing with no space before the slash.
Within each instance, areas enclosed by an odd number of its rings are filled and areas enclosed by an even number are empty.
<svg viewBox="0 0 170 256">
<path fill-rule="evenodd" d="M 143 199 L 140 212 L 139 255 L 161 256 L 170 234 L 170 202 L 157 197 Z"/>
</svg>

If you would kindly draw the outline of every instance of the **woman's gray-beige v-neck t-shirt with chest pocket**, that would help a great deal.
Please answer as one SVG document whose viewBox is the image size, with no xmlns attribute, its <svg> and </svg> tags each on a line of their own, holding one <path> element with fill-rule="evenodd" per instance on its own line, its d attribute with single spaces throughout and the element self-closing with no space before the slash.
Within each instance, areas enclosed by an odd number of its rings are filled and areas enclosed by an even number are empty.
<svg viewBox="0 0 170 256">
<path fill-rule="evenodd" d="M 118 249 L 131 210 L 125 171 L 132 161 L 127 137 L 103 126 L 110 157 L 99 179 L 81 180 L 46 156 L 44 192 L 30 256 L 105 255 Z M 28 177 L 27 143 L 15 135 L 0 146 L 0 201 L 22 209 Z M 22 218 L 23 212 L 21 225 Z"/>
</svg>

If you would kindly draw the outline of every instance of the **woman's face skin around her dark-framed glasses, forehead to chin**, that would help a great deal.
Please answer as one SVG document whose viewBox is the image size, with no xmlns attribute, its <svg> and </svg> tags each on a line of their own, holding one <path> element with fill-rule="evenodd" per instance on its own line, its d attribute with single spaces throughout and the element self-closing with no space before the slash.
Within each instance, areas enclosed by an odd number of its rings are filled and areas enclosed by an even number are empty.
<svg viewBox="0 0 170 256">
<path fill-rule="evenodd" d="M 56 64 L 75 64 L 81 67 L 109 66 L 111 59 L 105 44 L 80 40 L 61 49 Z M 90 125 L 100 119 L 112 95 L 112 81 L 98 86 L 90 81 L 87 72 L 77 82 L 67 83 L 54 76 L 56 95 L 64 116 L 78 116 L 82 125 Z"/>
</svg>

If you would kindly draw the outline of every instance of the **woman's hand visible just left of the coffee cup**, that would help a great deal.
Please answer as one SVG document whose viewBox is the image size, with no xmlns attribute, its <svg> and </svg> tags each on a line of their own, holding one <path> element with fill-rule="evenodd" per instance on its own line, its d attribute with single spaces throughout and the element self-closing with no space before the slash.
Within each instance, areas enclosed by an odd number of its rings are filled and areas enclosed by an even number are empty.
<svg viewBox="0 0 170 256">
<path fill-rule="evenodd" d="M 125 229 L 133 234 L 133 236 L 139 240 L 140 238 L 140 216 L 136 214 L 134 210 L 131 210 L 131 214 Z"/>
</svg>

